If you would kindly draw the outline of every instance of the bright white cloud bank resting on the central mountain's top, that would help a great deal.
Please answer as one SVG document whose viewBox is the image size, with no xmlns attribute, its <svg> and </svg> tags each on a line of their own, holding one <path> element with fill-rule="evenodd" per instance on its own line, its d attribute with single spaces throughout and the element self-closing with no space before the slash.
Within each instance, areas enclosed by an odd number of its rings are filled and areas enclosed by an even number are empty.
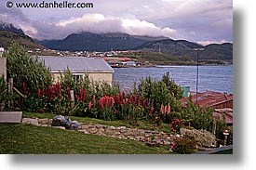
<svg viewBox="0 0 256 170">
<path fill-rule="evenodd" d="M 85 14 L 82 17 L 60 20 L 54 24 L 34 21 L 31 30 L 37 30 L 34 35 L 38 39 L 62 39 L 70 33 L 81 31 L 92 33 L 128 33 L 133 35 L 168 36 L 182 38 L 176 30 L 157 27 L 154 23 L 138 19 L 122 19 L 114 16 L 104 16 L 100 13 Z M 22 27 L 21 28 L 25 28 Z M 47 32 L 49 29 L 51 32 Z"/>
</svg>

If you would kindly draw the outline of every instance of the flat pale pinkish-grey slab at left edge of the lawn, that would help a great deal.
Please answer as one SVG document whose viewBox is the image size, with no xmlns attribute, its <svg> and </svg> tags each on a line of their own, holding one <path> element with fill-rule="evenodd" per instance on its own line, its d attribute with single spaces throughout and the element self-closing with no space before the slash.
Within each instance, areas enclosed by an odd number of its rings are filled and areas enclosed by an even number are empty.
<svg viewBox="0 0 256 170">
<path fill-rule="evenodd" d="M 0 111 L 0 123 L 21 123 L 22 111 Z"/>
</svg>

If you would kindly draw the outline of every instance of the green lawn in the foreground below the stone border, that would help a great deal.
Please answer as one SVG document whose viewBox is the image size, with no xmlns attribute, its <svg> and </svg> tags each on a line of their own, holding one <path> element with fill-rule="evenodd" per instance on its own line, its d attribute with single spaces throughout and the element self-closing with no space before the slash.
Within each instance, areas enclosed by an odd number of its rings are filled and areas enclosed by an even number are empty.
<svg viewBox="0 0 256 170">
<path fill-rule="evenodd" d="M 0 124 L 0 131 L 1 154 L 169 153 L 168 146 L 151 148 L 139 141 L 85 135 L 81 132 L 31 124 Z"/>
</svg>

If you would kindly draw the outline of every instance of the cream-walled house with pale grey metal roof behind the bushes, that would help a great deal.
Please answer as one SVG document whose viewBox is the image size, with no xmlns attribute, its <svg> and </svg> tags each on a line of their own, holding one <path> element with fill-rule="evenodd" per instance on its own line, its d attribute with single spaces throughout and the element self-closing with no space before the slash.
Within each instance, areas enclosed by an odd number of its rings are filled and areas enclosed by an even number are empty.
<svg viewBox="0 0 256 170">
<path fill-rule="evenodd" d="M 104 81 L 112 85 L 114 70 L 104 59 L 59 56 L 38 56 L 38 59 L 50 69 L 55 82 L 60 80 L 61 74 L 69 70 L 75 82 L 88 74 L 93 81 Z"/>
</svg>

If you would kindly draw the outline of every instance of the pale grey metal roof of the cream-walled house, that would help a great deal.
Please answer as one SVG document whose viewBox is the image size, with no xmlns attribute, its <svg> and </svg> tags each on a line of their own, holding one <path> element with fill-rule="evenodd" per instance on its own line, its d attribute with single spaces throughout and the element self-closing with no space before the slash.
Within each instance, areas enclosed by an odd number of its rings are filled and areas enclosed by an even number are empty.
<svg viewBox="0 0 256 170">
<path fill-rule="evenodd" d="M 104 59 L 99 58 L 59 56 L 38 56 L 38 58 L 44 60 L 51 72 L 66 72 L 67 68 L 70 72 L 114 72 Z"/>
</svg>

